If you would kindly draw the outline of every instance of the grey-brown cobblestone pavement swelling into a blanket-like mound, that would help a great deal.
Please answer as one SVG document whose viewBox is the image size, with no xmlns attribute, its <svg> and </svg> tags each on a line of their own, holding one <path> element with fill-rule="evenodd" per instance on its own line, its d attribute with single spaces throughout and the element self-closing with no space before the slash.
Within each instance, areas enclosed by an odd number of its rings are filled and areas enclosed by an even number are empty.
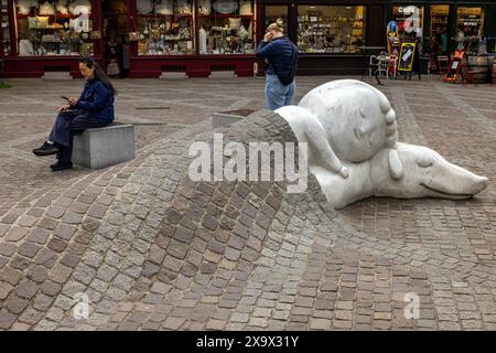
<svg viewBox="0 0 496 353">
<path fill-rule="evenodd" d="M 300 77 L 303 95 L 336 77 Z M 489 178 L 468 201 L 368 199 L 339 212 L 313 178 L 192 183 L 193 140 L 214 111 L 260 109 L 262 79 L 121 81 L 136 160 L 52 173 L 43 141 L 79 82 L 0 90 L 1 330 L 494 330 L 495 86 L 389 81 L 400 140 Z M 225 140 L 294 141 L 268 111 Z M 89 296 L 89 318 L 73 315 Z M 420 318 L 405 317 L 405 293 Z"/>
</svg>

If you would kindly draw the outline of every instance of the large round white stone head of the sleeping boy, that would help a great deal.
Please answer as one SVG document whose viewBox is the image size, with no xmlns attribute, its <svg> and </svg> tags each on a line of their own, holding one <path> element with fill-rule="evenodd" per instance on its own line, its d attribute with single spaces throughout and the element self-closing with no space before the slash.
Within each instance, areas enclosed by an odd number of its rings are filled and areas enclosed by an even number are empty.
<svg viewBox="0 0 496 353">
<path fill-rule="evenodd" d="M 363 162 L 398 140 L 396 114 L 378 89 L 357 81 L 330 82 L 309 92 L 300 107 L 324 127 L 342 160 Z"/>
</svg>

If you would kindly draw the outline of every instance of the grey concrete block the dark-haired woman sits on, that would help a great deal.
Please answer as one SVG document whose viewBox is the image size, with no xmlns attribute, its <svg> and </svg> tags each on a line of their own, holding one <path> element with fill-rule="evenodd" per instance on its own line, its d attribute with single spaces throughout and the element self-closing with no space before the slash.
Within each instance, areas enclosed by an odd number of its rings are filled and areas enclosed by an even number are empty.
<svg viewBox="0 0 496 353">
<path fill-rule="evenodd" d="M 100 169 L 134 158 L 134 126 L 111 124 L 74 137 L 73 163 Z"/>
</svg>

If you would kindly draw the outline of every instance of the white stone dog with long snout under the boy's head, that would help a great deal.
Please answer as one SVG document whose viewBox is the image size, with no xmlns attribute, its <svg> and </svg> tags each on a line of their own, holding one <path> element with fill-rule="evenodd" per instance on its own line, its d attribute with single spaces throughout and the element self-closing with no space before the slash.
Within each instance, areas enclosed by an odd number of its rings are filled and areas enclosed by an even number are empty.
<svg viewBox="0 0 496 353">
<path fill-rule="evenodd" d="M 388 170 L 387 149 L 362 163 L 345 162 L 351 170 L 347 179 L 325 168 L 315 168 L 314 175 L 327 202 L 335 208 L 343 208 L 369 196 L 461 200 L 472 197 L 487 186 L 487 178 L 448 162 L 430 148 L 402 142 L 396 147 L 403 168 L 400 179 L 392 178 Z"/>
</svg>

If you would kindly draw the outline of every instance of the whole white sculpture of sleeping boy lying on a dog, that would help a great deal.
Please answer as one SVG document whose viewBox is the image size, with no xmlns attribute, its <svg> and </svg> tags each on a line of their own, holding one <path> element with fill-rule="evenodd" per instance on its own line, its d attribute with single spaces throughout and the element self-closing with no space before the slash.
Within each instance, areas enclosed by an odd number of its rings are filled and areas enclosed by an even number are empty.
<svg viewBox="0 0 496 353">
<path fill-rule="evenodd" d="M 309 143 L 310 171 L 336 208 L 373 195 L 466 199 L 487 186 L 429 148 L 398 142 L 395 110 L 363 82 L 326 83 L 276 113 Z"/>
</svg>

